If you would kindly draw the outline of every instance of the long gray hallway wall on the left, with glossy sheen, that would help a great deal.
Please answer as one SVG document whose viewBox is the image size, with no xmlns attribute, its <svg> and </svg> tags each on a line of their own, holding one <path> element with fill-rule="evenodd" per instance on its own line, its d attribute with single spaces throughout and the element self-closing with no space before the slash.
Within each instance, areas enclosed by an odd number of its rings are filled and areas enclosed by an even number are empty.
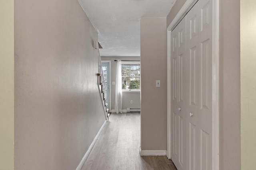
<svg viewBox="0 0 256 170">
<path fill-rule="evenodd" d="M 74 170 L 105 121 L 77 0 L 14 1 L 15 170 Z"/>
</svg>

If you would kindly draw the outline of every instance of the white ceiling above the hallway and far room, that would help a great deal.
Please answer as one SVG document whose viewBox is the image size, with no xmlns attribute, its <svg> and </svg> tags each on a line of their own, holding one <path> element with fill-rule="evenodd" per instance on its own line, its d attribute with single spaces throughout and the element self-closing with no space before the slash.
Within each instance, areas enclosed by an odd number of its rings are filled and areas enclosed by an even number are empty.
<svg viewBox="0 0 256 170">
<path fill-rule="evenodd" d="M 166 17 L 176 0 L 78 0 L 98 31 L 101 56 L 140 56 L 140 18 Z"/>
</svg>

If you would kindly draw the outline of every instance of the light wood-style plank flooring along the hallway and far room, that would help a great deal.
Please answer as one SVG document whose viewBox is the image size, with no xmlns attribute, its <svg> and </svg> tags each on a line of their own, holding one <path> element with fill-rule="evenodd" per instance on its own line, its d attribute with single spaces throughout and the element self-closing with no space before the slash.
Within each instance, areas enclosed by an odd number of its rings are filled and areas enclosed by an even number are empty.
<svg viewBox="0 0 256 170">
<path fill-rule="evenodd" d="M 140 156 L 140 113 L 112 113 L 82 170 L 177 170 L 166 156 Z"/>
</svg>

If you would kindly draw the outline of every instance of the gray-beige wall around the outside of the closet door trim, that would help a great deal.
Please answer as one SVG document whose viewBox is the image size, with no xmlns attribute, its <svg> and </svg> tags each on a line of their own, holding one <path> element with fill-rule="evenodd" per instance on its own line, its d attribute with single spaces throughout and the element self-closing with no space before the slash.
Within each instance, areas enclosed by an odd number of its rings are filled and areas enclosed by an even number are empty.
<svg viewBox="0 0 256 170">
<path fill-rule="evenodd" d="M 184 2 L 175 2 L 167 16 L 167 27 Z M 240 0 L 220 0 L 219 3 L 220 170 L 238 170 L 241 167 Z"/>
</svg>

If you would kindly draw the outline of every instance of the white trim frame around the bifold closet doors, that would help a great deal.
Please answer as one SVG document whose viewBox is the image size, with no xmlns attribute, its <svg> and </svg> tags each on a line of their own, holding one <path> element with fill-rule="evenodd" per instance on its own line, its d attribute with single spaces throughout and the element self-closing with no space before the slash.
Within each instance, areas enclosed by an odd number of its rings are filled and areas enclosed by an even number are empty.
<svg viewBox="0 0 256 170">
<path fill-rule="evenodd" d="M 198 0 L 187 0 L 167 28 L 167 153 L 171 159 L 171 32 Z M 219 170 L 219 0 L 212 0 L 212 169 Z"/>
</svg>

